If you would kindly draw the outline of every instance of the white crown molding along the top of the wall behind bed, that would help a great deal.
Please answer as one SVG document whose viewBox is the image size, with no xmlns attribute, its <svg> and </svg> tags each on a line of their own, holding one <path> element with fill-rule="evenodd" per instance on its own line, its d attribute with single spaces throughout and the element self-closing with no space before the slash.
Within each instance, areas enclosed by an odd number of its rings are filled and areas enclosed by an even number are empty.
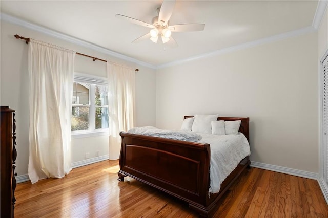
<svg viewBox="0 0 328 218">
<path fill-rule="evenodd" d="M 294 30 L 294 31 L 286 32 L 286 33 L 281 33 L 281 34 L 278 34 L 278 35 L 269 36 L 269 37 L 258 39 L 258 40 L 255 40 L 255 41 L 245 42 L 245 43 L 239 44 L 237 46 L 232 46 L 232 47 L 216 50 L 214 52 L 204 53 L 204 54 L 201 54 L 201 55 L 195 55 L 195 56 L 192 56 L 192 57 L 189 57 L 189 58 L 186 58 L 186 59 L 161 64 L 161 65 L 157 66 L 157 69 L 167 68 L 167 67 L 179 65 L 179 64 L 182 64 L 182 63 L 198 60 L 198 59 L 201 59 L 201 58 L 208 58 L 208 57 L 213 57 L 213 56 L 217 56 L 217 55 L 222 55 L 222 54 L 235 52 L 235 51 L 242 50 L 242 49 L 248 49 L 248 48 L 252 48 L 252 47 L 255 47 L 255 46 L 267 44 L 267 43 L 270 43 L 270 42 L 279 41 L 279 40 L 290 38 L 290 37 L 296 37 L 296 36 L 316 32 L 316 31 L 317 30 L 314 27 L 305 27 L 305 28 L 302 28 L 302 29 L 298 29 L 298 30 Z"/>
</svg>

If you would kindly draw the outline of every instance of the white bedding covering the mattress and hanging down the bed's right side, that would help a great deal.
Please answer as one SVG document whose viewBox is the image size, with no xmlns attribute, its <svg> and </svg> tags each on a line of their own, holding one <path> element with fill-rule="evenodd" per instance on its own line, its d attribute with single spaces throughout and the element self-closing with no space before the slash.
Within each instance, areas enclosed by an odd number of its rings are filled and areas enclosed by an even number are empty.
<svg viewBox="0 0 328 218">
<path fill-rule="evenodd" d="M 210 144 L 209 194 L 219 192 L 223 180 L 242 159 L 251 154 L 250 145 L 242 133 L 219 136 L 186 130 L 163 130 L 153 126 L 135 127 L 130 129 L 128 133 Z"/>
</svg>

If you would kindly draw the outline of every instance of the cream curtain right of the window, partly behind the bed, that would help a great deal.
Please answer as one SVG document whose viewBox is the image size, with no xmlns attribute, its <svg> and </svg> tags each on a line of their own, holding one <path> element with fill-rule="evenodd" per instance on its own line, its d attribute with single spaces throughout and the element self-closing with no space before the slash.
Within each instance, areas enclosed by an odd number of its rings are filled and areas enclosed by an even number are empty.
<svg viewBox="0 0 328 218">
<path fill-rule="evenodd" d="M 109 159 L 119 159 L 120 131 L 134 127 L 135 71 L 107 62 L 109 103 Z"/>
</svg>

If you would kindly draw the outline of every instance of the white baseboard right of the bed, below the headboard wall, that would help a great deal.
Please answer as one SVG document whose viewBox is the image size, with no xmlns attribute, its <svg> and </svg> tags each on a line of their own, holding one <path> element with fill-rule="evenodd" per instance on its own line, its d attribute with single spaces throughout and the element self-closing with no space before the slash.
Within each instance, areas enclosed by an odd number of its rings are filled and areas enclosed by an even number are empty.
<svg viewBox="0 0 328 218">
<path fill-rule="evenodd" d="M 308 171 L 303 171 L 303 170 L 298 170 L 298 169 L 291 169 L 288 167 L 276 166 L 276 165 L 259 163 L 259 162 L 254 162 L 254 161 L 252 161 L 251 166 L 260 168 L 260 169 L 267 169 L 267 170 L 271 170 L 271 171 L 275 171 L 275 172 L 282 172 L 282 173 L 297 176 L 297 177 L 304 177 L 304 178 L 308 178 L 308 179 L 318 180 L 318 173 L 314 173 L 314 172 L 308 172 Z"/>
</svg>

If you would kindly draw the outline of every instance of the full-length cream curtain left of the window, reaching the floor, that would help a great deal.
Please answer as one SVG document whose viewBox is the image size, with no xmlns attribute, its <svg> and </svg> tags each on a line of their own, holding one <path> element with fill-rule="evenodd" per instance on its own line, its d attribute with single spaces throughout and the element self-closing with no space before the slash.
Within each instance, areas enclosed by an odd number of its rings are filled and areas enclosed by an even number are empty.
<svg viewBox="0 0 328 218">
<path fill-rule="evenodd" d="M 71 167 L 71 111 L 75 52 L 29 42 L 30 156 L 33 183 L 61 178 Z"/>
</svg>

